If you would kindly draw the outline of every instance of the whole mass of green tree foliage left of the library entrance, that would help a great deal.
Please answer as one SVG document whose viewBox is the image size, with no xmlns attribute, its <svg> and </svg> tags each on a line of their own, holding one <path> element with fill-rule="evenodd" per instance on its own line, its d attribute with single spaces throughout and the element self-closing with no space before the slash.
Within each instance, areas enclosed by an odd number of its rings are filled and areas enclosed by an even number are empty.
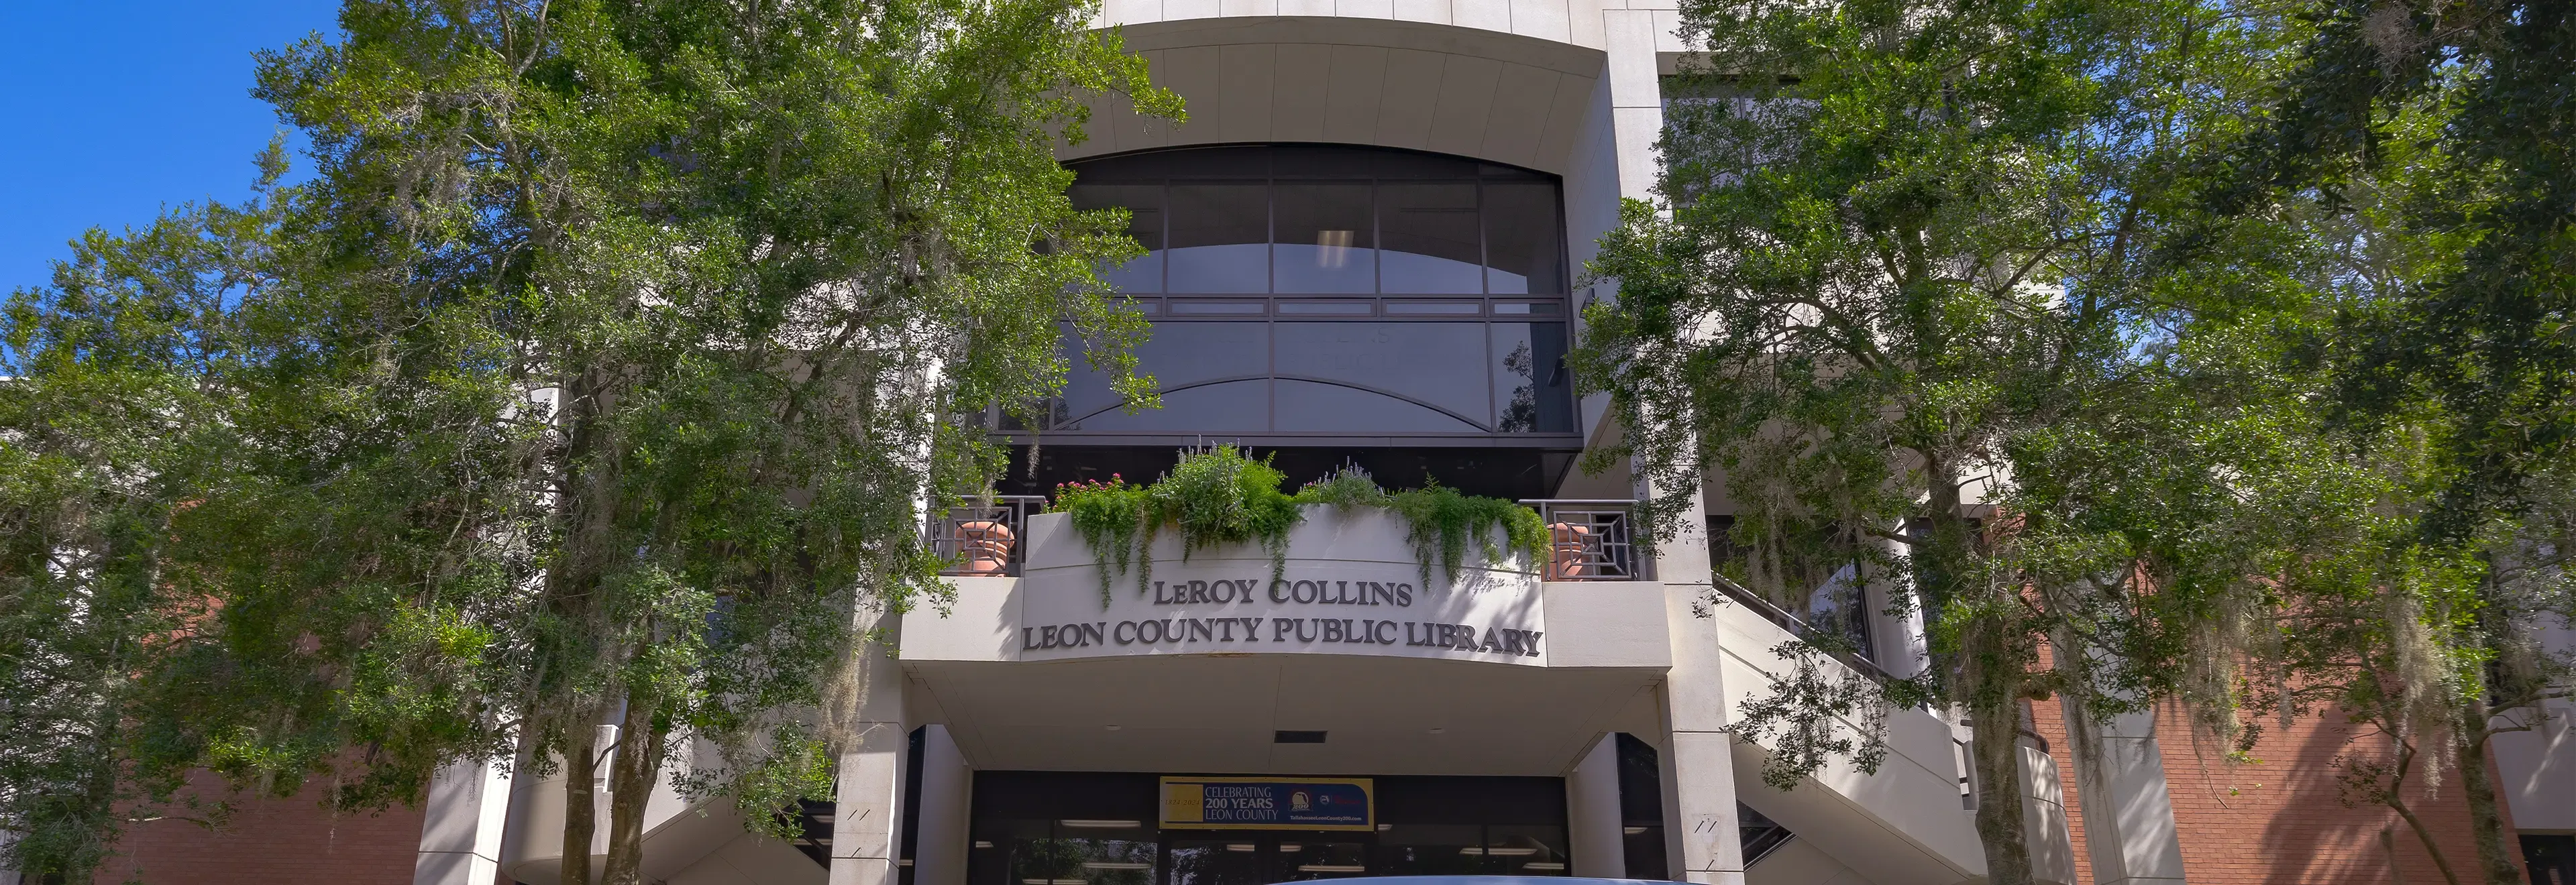
<svg viewBox="0 0 2576 885">
<path fill-rule="evenodd" d="M 1054 396 L 1066 329 L 1151 388 L 1092 275 L 1136 244 L 1054 147 L 1095 93 L 1180 103 L 1090 18 L 353 0 L 263 54 L 312 180 L 93 237 L 10 306 L 0 512 L 59 530 L 0 576 L 28 617 L 80 610 L 106 584 L 52 576 L 106 576 L 62 556 L 121 525 L 142 592 L 100 651 L 26 633 L 139 674 L 18 728 L 57 736 L 26 782 L 106 777 L 67 792 L 93 839 L 59 870 L 113 834 L 121 759 L 381 805 L 456 759 L 546 767 L 618 705 L 636 751 L 716 744 L 703 790 L 824 790 L 850 736 L 801 715 L 866 659 L 860 610 L 945 592 L 922 499 L 999 471 L 979 417 Z"/>
</svg>

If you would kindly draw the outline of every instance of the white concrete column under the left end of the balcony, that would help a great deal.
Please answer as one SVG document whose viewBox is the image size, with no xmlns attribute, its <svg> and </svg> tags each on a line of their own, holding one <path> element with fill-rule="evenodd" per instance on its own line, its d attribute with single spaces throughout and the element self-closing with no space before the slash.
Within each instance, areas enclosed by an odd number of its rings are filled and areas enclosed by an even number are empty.
<svg viewBox="0 0 2576 885">
<path fill-rule="evenodd" d="M 899 617 L 863 620 L 899 633 Z M 860 648 L 866 659 L 858 710 L 837 710 L 848 715 L 853 741 L 840 756 L 840 785 L 832 795 L 829 885 L 894 885 L 894 852 L 904 839 L 904 751 L 912 728 L 904 725 L 904 666 L 886 653 L 891 643 L 894 638 Z"/>
</svg>

